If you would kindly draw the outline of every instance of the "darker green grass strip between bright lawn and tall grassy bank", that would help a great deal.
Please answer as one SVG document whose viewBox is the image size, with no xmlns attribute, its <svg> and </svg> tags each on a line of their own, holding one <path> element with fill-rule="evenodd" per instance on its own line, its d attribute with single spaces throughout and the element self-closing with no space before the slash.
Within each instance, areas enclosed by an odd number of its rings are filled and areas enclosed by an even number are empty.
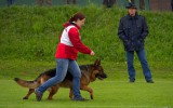
<svg viewBox="0 0 173 108">
<path fill-rule="evenodd" d="M 150 69 L 154 75 L 154 79 L 167 79 L 173 78 L 172 62 L 160 63 L 149 62 Z M 94 64 L 94 60 L 81 60 L 78 59 L 79 65 Z M 26 78 L 34 80 L 41 72 L 54 68 L 56 66 L 55 60 L 53 62 L 29 62 L 21 59 L 1 60 L 0 59 L 0 79 L 13 79 L 16 77 Z M 102 66 L 105 72 L 108 75 L 109 80 L 122 80 L 128 79 L 127 73 L 127 62 L 107 62 L 102 60 Z M 135 60 L 134 67 L 136 69 L 136 78 L 143 79 L 143 71 L 138 60 Z"/>
</svg>

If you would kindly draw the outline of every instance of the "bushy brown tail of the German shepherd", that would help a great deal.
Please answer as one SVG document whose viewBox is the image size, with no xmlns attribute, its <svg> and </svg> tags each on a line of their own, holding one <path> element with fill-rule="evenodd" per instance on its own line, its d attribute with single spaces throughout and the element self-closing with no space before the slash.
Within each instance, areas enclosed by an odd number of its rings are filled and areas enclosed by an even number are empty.
<svg viewBox="0 0 173 108">
<path fill-rule="evenodd" d="M 19 84 L 23 87 L 29 87 L 29 89 L 36 89 L 40 85 L 40 81 L 38 81 L 39 79 L 36 79 L 35 81 L 26 81 L 26 80 L 22 80 L 19 78 L 14 78 L 14 81 Z"/>
</svg>

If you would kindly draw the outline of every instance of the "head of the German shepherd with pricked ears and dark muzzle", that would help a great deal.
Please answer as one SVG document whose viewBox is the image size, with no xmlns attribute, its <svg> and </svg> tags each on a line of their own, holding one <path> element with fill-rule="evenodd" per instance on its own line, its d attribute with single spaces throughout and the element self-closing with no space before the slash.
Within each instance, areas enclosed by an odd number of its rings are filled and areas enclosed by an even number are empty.
<svg viewBox="0 0 173 108">
<path fill-rule="evenodd" d="M 107 75 L 104 72 L 104 69 L 101 65 L 101 59 L 96 59 L 93 65 L 93 73 L 95 78 L 98 78 L 99 80 L 106 79 Z"/>
</svg>

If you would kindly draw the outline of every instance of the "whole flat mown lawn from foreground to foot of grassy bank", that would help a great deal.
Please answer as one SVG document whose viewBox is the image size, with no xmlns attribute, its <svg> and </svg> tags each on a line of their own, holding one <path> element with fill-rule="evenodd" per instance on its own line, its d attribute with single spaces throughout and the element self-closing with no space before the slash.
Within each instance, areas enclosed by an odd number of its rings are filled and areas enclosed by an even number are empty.
<svg viewBox="0 0 173 108">
<path fill-rule="evenodd" d="M 78 62 L 89 64 L 91 62 Z M 171 63 L 170 63 L 171 64 Z M 172 67 L 152 66 L 155 83 L 146 83 L 139 64 L 136 82 L 128 82 L 127 65 L 124 63 L 103 62 L 102 65 L 108 78 L 91 83 L 94 99 L 72 102 L 68 98 L 68 89 L 61 89 L 53 100 L 46 100 L 45 92 L 42 102 L 36 102 L 35 94 L 28 100 L 22 98 L 27 89 L 17 85 L 14 77 L 34 80 L 41 71 L 54 67 L 54 62 L 0 60 L 0 108 L 172 108 L 173 79 Z M 24 72 L 25 71 L 25 72 Z M 90 99 L 86 92 L 82 96 Z"/>
</svg>

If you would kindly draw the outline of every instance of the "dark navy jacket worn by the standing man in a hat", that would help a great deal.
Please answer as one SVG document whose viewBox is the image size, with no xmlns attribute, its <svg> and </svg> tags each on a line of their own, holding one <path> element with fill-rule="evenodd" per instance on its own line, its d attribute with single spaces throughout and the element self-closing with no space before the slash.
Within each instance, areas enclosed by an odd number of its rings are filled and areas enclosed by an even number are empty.
<svg viewBox="0 0 173 108">
<path fill-rule="evenodd" d="M 125 51 L 143 50 L 147 35 L 148 27 L 144 16 L 136 13 L 134 17 L 127 15 L 120 19 L 118 36 L 123 41 Z"/>
</svg>

